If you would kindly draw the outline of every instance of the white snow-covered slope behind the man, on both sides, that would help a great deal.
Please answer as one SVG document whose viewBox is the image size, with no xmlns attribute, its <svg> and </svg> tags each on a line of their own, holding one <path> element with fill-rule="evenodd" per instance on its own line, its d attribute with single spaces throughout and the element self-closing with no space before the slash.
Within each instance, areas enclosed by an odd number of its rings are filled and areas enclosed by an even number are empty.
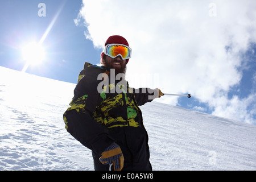
<svg viewBox="0 0 256 182">
<path fill-rule="evenodd" d="M 93 170 L 64 128 L 75 84 L 0 67 L 0 170 Z M 141 107 L 154 170 L 256 170 L 256 126 L 153 101 Z"/>
</svg>

